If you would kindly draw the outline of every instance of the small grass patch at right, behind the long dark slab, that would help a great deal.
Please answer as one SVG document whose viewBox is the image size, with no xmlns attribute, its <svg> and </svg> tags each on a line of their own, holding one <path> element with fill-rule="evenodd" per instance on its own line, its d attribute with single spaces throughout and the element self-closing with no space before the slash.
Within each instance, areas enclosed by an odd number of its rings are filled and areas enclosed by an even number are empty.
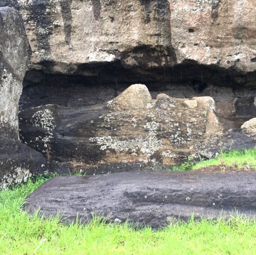
<svg viewBox="0 0 256 255">
<path fill-rule="evenodd" d="M 222 152 L 213 159 L 203 160 L 193 165 L 192 170 L 212 165 L 221 166 L 224 170 L 225 167 L 235 167 L 237 169 L 251 168 L 256 170 L 256 146 L 254 149 L 250 150 L 230 150 Z"/>
</svg>

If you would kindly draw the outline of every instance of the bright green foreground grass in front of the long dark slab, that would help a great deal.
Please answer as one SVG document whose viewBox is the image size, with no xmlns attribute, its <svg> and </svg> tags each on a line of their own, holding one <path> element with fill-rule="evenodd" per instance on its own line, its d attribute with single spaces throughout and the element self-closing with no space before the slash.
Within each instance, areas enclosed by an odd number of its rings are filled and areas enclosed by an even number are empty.
<svg viewBox="0 0 256 255">
<path fill-rule="evenodd" d="M 255 255 L 256 221 L 242 216 L 190 220 L 163 230 L 128 224 L 64 225 L 20 210 L 24 198 L 48 178 L 0 191 L 0 255 Z"/>
</svg>

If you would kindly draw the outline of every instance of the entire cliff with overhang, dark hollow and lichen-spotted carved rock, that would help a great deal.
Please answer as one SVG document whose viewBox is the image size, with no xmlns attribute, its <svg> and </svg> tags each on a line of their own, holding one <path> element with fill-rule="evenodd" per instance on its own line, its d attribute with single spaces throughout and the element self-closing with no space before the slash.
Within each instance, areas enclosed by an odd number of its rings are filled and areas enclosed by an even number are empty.
<svg viewBox="0 0 256 255">
<path fill-rule="evenodd" d="M 256 116 L 255 0 L 2 0 L 0 6 L 20 12 L 32 49 L 20 138 L 52 170 L 172 165 L 220 147 L 255 145 L 255 136 L 240 130 Z M 127 146 L 116 150 L 120 144 Z"/>
</svg>

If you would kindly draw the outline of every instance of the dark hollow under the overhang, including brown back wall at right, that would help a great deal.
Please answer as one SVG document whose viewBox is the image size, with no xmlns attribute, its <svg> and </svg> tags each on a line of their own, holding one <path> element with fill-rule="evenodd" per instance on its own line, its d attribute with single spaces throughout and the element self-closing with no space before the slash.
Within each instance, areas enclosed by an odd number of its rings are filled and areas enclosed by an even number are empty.
<svg viewBox="0 0 256 255">
<path fill-rule="evenodd" d="M 103 104 L 132 84 L 144 84 L 153 98 L 161 93 L 174 98 L 211 96 L 222 117 L 252 118 L 256 114 L 256 89 L 250 86 L 256 82 L 255 75 L 216 65 L 187 60 L 173 66 L 127 68 L 114 61 L 83 64 L 72 67 L 73 70 L 68 67 L 66 74 L 52 71 L 54 63 L 44 65 L 44 71 L 26 72 L 20 110 L 48 104 L 63 107 Z"/>
</svg>

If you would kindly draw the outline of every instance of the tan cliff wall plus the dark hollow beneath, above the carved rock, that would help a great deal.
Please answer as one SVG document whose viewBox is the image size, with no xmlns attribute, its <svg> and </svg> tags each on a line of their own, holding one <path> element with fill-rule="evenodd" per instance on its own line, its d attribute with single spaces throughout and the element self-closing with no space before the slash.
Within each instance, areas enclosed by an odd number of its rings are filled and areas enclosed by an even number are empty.
<svg viewBox="0 0 256 255">
<path fill-rule="evenodd" d="M 254 118 L 255 4 L 0 1 L 20 11 L 33 52 L 20 106 L 95 105 L 144 83 L 153 98 L 210 96 L 220 117 Z"/>
</svg>

